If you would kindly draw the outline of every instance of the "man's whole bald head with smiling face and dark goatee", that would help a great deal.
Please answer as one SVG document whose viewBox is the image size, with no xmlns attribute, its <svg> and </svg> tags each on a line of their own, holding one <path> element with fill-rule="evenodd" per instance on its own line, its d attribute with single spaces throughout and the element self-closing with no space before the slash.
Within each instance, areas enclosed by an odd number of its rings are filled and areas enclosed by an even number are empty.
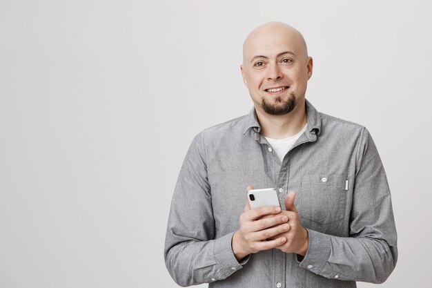
<svg viewBox="0 0 432 288">
<path fill-rule="evenodd" d="M 255 109 L 285 115 L 304 101 L 313 61 L 303 36 L 285 23 L 255 28 L 243 44 L 243 81 Z"/>
</svg>

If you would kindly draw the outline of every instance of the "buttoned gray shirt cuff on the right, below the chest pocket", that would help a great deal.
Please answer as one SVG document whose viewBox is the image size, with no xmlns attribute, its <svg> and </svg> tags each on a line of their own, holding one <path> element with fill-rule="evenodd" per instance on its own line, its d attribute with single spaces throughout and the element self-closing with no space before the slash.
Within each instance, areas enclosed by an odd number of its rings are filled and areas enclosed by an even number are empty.
<svg viewBox="0 0 432 288">
<path fill-rule="evenodd" d="M 306 255 L 300 262 L 300 267 L 321 274 L 331 252 L 330 236 L 311 229 L 306 230 L 309 234 L 308 251 L 306 251 Z M 297 258 L 297 260 L 300 259 Z"/>
</svg>

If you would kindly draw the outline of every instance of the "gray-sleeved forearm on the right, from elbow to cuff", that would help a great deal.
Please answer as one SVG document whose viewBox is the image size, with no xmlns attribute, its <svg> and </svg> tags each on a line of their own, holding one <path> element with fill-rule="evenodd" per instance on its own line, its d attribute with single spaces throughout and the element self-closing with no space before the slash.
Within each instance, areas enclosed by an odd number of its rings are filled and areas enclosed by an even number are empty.
<svg viewBox="0 0 432 288">
<path fill-rule="evenodd" d="M 300 267 L 339 280 L 382 283 L 395 268 L 396 247 L 385 240 L 330 236 L 309 232 L 309 247 Z"/>
</svg>

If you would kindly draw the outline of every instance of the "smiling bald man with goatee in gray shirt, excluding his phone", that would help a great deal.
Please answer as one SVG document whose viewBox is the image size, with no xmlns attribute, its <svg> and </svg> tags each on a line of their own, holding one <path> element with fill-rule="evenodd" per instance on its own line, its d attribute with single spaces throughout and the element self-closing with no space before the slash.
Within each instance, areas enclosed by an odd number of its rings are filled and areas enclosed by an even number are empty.
<svg viewBox="0 0 432 288">
<path fill-rule="evenodd" d="M 393 271 L 380 156 L 364 126 L 306 100 L 312 68 L 304 38 L 284 23 L 244 41 L 253 109 L 195 137 L 173 194 L 164 256 L 179 285 L 355 287 Z M 251 209 L 254 187 L 275 188 L 280 207 Z"/>
</svg>

